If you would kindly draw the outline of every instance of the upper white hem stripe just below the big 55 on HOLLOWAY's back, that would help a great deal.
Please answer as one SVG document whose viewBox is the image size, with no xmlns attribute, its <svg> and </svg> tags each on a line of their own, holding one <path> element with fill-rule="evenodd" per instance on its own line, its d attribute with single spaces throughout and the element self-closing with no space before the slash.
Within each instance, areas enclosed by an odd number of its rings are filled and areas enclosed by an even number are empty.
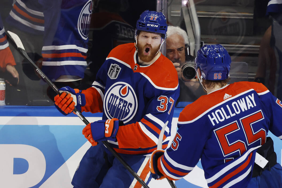
<svg viewBox="0 0 282 188">
<path fill-rule="evenodd" d="M 240 164 L 241 162 L 243 162 L 248 156 L 249 154 L 254 151 L 255 149 L 259 148 L 261 146 L 257 146 L 257 147 L 252 147 L 251 149 L 249 149 L 248 151 L 245 151 L 244 155 L 242 155 L 239 159 L 235 160 L 234 162 L 232 162 L 231 164 L 227 165 L 226 167 L 224 167 L 223 169 L 221 169 L 218 173 L 214 174 L 212 177 L 206 179 L 207 183 L 211 183 L 214 180 L 216 180 L 217 178 L 219 178 L 220 176 L 222 176 L 224 173 L 226 173 L 228 170 L 232 169 L 233 167 L 235 167 L 236 165 Z"/>
</svg>

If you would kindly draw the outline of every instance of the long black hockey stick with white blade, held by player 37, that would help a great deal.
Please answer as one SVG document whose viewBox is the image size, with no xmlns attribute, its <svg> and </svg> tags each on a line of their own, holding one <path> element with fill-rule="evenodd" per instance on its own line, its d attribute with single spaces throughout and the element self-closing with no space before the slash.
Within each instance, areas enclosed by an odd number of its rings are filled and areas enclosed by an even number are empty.
<svg viewBox="0 0 282 188">
<path fill-rule="evenodd" d="M 48 77 L 46 77 L 46 75 L 38 68 L 38 66 L 36 66 L 36 64 L 28 57 L 27 52 L 25 51 L 25 48 L 23 47 L 23 43 L 21 42 L 21 39 L 19 38 L 19 36 L 13 32 L 7 31 L 6 35 L 14 42 L 14 44 L 16 45 L 16 49 L 19 50 L 19 52 L 21 52 L 21 55 L 23 57 L 25 57 L 33 66 L 34 68 L 36 68 L 36 71 L 41 75 L 41 77 L 47 82 L 47 84 L 49 86 L 51 86 L 54 91 L 57 94 L 61 94 L 59 92 L 59 89 L 53 84 L 53 82 L 51 80 L 49 80 Z M 80 111 L 78 111 L 76 108 L 74 108 L 74 113 L 76 113 L 76 115 L 78 115 L 78 117 L 85 123 L 85 125 L 88 125 L 89 122 L 87 121 L 87 119 L 81 114 Z M 121 158 L 121 156 L 109 145 L 108 142 L 106 141 L 102 141 L 102 143 L 104 144 L 104 146 L 111 151 L 111 153 L 113 153 L 113 155 L 124 165 L 124 167 L 134 176 L 134 178 L 141 183 L 141 185 L 143 187 L 149 188 L 149 186 L 137 175 L 137 173 Z"/>
</svg>

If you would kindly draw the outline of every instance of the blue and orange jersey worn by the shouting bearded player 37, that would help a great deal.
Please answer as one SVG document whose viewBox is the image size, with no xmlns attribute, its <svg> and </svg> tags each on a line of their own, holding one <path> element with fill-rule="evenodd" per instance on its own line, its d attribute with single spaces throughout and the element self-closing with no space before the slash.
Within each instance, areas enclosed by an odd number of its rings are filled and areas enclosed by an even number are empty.
<svg viewBox="0 0 282 188">
<path fill-rule="evenodd" d="M 103 112 L 103 119 L 124 122 L 111 142 L 118 153 L 148 154 L 157 148 L 166 121 L 163 149 L 170 138 L 175 101 L 179 96 L 177 71 L 162 54 L 151 65 L 141 66 L 134 43 L 114 48 L 97 73 L 91 88 L 83 90 L 82 111 Z"/>
</svg>

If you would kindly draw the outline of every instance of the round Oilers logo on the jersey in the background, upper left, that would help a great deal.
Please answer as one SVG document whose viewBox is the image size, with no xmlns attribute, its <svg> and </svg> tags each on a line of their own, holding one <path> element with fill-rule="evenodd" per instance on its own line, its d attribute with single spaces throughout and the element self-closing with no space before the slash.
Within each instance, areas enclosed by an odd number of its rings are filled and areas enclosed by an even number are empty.
<svg viewBox="0 0 282 188">
<path fill-rule="evenodd" d="M 77 23 L 78 32 L 84 40 L 87 40 L 88 38 L 91 14 L 92 14 L 92 0 L 89 0 L 83 6 L 79 14 L 78 23 Z"/>
</svg>

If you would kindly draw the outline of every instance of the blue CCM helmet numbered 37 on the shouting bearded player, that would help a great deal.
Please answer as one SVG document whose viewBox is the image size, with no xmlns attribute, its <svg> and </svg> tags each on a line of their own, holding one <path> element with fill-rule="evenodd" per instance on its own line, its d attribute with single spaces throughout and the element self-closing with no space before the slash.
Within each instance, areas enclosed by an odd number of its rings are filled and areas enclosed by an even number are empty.
<svg viewBox="0 0 282 188">
<path fill-rule="evenodd" d="M 140 18 L 136 23 L 136 31 L 147 31 L 153 33 L 161 33 L 162 38 L 166 38 L 166 31 L 168 30 L 168 24 L 166 23 L 166 17 L 162 12 L 145 10 L 140 15 Z M 137 34 L 137 33 L 136 33 Z"/>
</svg>

